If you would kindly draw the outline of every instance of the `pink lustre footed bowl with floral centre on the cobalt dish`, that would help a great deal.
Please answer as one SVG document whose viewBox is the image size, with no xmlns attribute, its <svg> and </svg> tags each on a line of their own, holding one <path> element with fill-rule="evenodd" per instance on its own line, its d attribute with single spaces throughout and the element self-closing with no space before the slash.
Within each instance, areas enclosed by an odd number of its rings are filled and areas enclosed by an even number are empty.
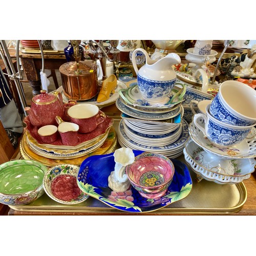
<svg viewBox="0 0 256 256">
<path fill-rule="evenodd" d="M 143 153 L 127 165 L 126 175 L 139 194 L 147 199 L 165 195 L 174 177 L 174 164 L 167 157 L 156 153 Z"/>
</svg>

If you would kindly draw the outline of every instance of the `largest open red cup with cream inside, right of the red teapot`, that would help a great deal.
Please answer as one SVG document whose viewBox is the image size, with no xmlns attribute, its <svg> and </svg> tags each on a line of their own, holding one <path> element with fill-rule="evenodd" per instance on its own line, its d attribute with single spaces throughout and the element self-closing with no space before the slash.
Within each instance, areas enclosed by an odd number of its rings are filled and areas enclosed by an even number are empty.
<svg viewBox="0 0 256 256">
<path fill-rule="evenodd" d="M 94 104 L 77 104 L 68 109 L 73 123 L 79 125 L 79 133 L 90 133 L 106 119 L 106 115 Z"/>
</svg>

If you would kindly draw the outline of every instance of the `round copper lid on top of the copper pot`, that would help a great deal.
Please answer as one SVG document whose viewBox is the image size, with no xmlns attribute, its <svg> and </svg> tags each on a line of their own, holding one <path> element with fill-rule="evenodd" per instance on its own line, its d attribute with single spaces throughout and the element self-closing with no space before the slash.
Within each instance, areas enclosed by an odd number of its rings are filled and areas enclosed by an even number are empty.
<svg viewBox="0 0 256 256">
<path fill-rule="evenodd" d="M 93 60 L 70 61 L 60 66 L 59 72 L 67 76 L 86 76 L 97 70 Z"/>
</svg>

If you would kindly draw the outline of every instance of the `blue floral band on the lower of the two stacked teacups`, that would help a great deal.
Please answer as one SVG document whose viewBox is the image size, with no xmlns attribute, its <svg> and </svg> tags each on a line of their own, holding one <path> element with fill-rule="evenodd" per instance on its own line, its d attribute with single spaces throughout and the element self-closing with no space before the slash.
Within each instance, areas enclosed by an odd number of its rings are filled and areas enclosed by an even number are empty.
<svg viewBox="0 0 256 256">
<path fill-rule="evenodd" d="M 208 120 L 208 139 L 210 139 L 212 142 L 215 142 L 216 144 L 221 144 L 224 146 L 242 142 L 250 130 L 251 128 L 247 130 L 236 131 L 216 124 L 210 119 Z"/>
</svg>

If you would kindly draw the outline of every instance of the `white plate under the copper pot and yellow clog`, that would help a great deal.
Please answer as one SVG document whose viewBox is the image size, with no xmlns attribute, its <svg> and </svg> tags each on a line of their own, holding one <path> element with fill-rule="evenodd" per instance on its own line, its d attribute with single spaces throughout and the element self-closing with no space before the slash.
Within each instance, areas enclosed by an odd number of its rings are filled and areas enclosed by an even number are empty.
<svg viewBox="0 0 256 256">
<path fill-rule="evenodd" d="M 124 82 L 121 82 L 121 81 L 118 80 L 117 81 L 117 87 L 115 88 L 115 93 L 111 94 L 109 99 L 107 99 L 105 101 L 102 101 L 102 102 L 98 102 L 97 101 L 98 94 L 97 94 L 92 99 L 77 100 L 77 103 L 79 103 L 79 104 L 81 104 L 81 103 L 90 103 L 90 104 L 97 105 L 99 107 L 99 109 L 101 109 L 104 106 L 108 106 L 108 105 L 111 105 L 111 104 L 115 103 L 115 101 L 119 97 L 119 93 L 118 93 L 119 90 L 120 89 L 125 89 L 125 88 L 127 88 L 126 84 Z M 69 102 L 69 99 L 63 94 L 63 87 L 62 86 L 60 86 L 56 91 L 61 92 L 62 100 L 63 100 L 64 103 Z"/>
</svg>

